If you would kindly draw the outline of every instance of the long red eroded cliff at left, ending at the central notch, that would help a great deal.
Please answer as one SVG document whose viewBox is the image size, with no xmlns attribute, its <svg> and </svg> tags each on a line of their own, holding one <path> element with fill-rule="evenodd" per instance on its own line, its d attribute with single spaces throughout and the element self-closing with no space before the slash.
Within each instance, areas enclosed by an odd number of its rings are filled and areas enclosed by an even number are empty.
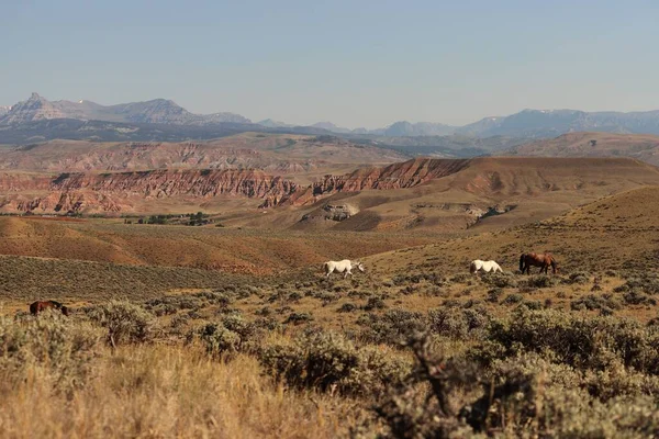
<svg viewBox="0 0 659 439">
<path fill-rule="evenodd" d="M 57 177 L 0 175 L 5 211 L 121 212 L 127 200 L 243 196 L 280 204 L 298 185 L 258 170 L 154 170 L 118 173 L 62 173 Z M 12 194 L 14 192 L 15 194 Z M 30 193 L 38 192 L 30 195 Z M 13 196 L 12 196 L 13 195 Z"/>
</svg>

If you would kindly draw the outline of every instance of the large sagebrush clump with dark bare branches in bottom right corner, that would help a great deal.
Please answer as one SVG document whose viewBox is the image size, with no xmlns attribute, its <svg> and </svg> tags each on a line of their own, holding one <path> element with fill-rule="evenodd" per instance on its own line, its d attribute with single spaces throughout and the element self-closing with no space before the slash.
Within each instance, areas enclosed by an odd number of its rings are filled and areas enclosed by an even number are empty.
<svg viewBox="0 0 659 439">
<path fill-rule="evenodd" d="M 524 353 L 483 368 L 411 340 L 412 373 L 376 403 L 384 437 L 657 437 L 657 380 L 617 369 L 585 374 Z"/>
</svg>

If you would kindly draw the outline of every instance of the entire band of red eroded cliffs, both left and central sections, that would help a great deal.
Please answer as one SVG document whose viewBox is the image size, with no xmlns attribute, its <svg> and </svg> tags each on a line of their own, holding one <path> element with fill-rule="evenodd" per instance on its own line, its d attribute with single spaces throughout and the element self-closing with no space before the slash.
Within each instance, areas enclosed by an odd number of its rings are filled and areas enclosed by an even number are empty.
<svg viewBox="0 0 659 439">
<path fill-rule="evenodd" d="M 135 172 L 66 172 L 0 175 L 4 211 L 122 212 L 129 200 L 239 196 L 261 200 L 259 207 L 306 205 L 337 192 L 412 188 L 455 173 L 469 160 L 414 159 L 387 167 L 362 168 L 345 176 L 325 176 L 301 187 L 261 170 L 180 169 Z M 13 196 L 11 196 L 13 194 Z M 9 195 L 9 196 L 8 196 Z"/>
</svg>

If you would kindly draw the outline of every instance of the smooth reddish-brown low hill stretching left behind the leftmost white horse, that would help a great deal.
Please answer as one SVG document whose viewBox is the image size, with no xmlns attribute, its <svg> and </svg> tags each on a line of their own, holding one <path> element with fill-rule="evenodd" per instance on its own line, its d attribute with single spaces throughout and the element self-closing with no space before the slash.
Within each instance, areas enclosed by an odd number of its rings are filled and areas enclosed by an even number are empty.
<svg viewBox="0 0 659 439">
<path fill-rule="evenodd" d="M 0 254 L 271 274 L 436 238 L 0 217 Z"/>
</svg>

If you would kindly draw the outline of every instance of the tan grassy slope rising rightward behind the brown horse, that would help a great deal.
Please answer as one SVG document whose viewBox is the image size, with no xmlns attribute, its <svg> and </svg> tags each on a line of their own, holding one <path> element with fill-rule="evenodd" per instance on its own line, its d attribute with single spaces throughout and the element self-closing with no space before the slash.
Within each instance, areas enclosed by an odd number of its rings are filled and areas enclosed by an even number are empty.
<svg viewBox="0 0 659 439">
<path fill-rule="evenodd" d="M 647 271 L 659 269 L 658 236 L 659 187 L 644 187 L 543 222 L 377 255 L 367 258 L 367 263 L 382 275 L 404 273 L 410 264 L 468 272 L 473 259 L 494 259 L 504 270 L 516 271 L 522 252 L 547 250 L 568 273 Z"/>
</svg>

